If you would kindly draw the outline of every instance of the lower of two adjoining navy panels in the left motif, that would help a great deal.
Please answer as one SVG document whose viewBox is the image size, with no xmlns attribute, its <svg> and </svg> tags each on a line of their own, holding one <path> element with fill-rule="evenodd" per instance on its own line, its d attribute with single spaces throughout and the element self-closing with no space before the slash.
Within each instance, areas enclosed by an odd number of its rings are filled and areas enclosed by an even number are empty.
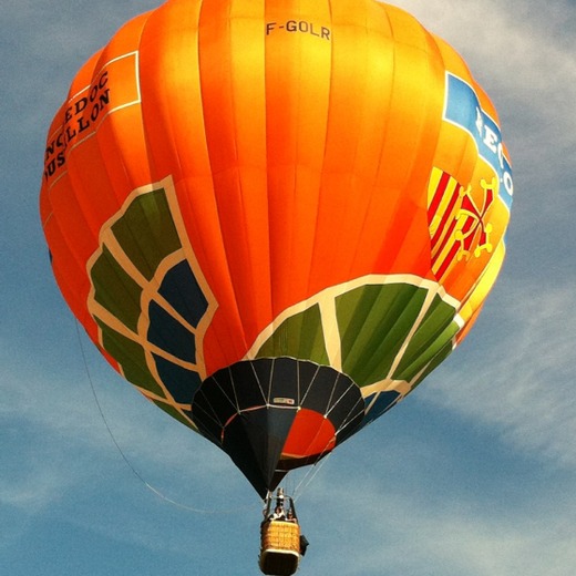
<svg viewBox="0 0 576 576">
<path fill-rule="evenodd" d="M 196 341 L 192 332 L 155 301 L 150 302 L 148 318 L 151 343 L 186 362 L 196 361 Z"/>
</svg>

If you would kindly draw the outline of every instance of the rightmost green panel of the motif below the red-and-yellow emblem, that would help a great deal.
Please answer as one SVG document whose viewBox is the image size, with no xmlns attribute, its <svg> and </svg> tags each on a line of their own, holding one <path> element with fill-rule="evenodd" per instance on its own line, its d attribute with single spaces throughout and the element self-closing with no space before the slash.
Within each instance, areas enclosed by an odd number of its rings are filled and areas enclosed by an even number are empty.
<svg viewBox="0 0 576 576">
<path fill-rule="evenodd" d="M 438 296 L 434 298 L 394 372 L 395 380 L 412 380 L 434 356 L 452 342 L 459 330 L 454 322 L 455 313 L 452 306 Z"/>
</svg>

